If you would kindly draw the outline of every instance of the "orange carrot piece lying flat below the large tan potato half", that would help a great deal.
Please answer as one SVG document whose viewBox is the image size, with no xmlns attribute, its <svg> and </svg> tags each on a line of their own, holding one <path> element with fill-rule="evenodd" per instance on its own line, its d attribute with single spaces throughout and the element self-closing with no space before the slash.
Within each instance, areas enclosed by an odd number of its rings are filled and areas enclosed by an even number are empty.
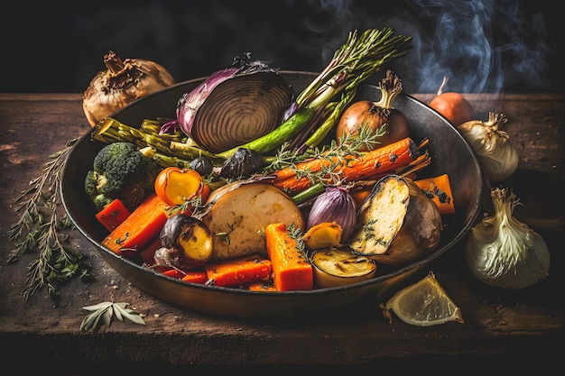
<svg viewBox="0 0 565 376">
<path fill-rule="evenodd" d="M 237 257 L 204 265 L 208 280 L 216 286 L 242 285 L 255 280 L 268 280 L 273 273 L 271 261 L 259 255 Z"/>
</svg>

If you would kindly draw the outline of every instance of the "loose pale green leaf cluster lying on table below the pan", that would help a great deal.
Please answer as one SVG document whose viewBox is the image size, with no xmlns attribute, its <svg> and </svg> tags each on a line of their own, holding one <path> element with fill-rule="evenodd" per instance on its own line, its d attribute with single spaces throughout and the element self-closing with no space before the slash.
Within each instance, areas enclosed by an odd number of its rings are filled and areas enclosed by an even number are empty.
<svg viewBox="0 0 565 376">
<path fill-rule="evenodd" d="M 135 313 L 133 309 L 127 308 L 128 305 L 129 303 L 124 302 L 114 303 L 105 301 L 94 306 L 82 307 L 82 309 L 92 311 L 92 313 L 88 314 L 88 316 L 82 320 L 82 323 L 80 323 L 80 331 L 96 331 L 101 324 L 110 326 L 114 316 L 120 321 L 124 321 L 125 317 L 135 324 L 146 325 L 142 316 Z"/>
</svg>

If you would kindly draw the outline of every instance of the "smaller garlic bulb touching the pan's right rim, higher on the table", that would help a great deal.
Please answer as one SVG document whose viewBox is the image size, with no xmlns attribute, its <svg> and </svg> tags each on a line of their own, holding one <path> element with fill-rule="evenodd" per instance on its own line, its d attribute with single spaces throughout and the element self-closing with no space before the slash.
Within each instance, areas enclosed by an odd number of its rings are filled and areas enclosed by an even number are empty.
<svg viewBox="0 0 565 376">
<path fill-rule="evenodd" d="M 518 151 L 508 141 L 508 134 L 502 130 L 507 119 L 504 114 L 488 114 L 488 121 L 471 120 L 458 126 L 485 169 L 491 181 L 509 178 L 518 168 Z"/>
</svg>

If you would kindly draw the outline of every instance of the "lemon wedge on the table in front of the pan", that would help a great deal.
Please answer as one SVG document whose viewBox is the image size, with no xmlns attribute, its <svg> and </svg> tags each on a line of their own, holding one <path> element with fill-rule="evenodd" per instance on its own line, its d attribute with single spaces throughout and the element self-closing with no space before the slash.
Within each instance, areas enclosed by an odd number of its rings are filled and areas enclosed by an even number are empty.
<svg viewBox="0 0 565 376">
<path fill-rule="evenodd" d="M 435 326 L 449 321 L 464 323 L 461 310 L 449 298 L 431 271 L 422 280 L 398 291 L 380 307 L 383 308 L 384 317 L 388 318 L 391 324 L 391 310 L 403 322 L 413 326 Z"/>
</svg>

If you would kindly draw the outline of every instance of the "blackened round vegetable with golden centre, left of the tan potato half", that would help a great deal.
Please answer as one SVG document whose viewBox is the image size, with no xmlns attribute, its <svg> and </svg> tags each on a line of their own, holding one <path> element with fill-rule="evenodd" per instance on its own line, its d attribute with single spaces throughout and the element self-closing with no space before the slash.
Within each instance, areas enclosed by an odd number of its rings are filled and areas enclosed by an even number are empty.
<svg viewBox="0 0 565 376">
<path fill-rule="evenodd" d="M 199 219 L 177 214 L 162 226 L 162 248 L 155 252 L 158 265 L 187 270 L 204 265 L 212 255 L 212 234 Z"/>
</svg>

